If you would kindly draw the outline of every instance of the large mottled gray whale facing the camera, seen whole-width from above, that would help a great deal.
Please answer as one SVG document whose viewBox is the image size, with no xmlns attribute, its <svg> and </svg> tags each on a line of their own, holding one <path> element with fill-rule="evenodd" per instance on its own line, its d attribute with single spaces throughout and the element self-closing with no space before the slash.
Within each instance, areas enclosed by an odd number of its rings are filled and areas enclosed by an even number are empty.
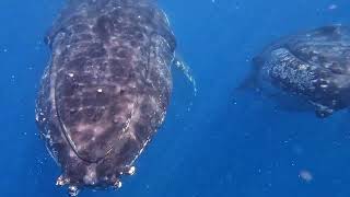
<svg viewBox="0 0 350 197">
<path fill-rule="evenodd" d="M 165 116 L 175 49 L 166 15 L 150 0 L 71 0 L 46 40 L 36 120 L 58 184 L 118 187 Z"/>
</svg>

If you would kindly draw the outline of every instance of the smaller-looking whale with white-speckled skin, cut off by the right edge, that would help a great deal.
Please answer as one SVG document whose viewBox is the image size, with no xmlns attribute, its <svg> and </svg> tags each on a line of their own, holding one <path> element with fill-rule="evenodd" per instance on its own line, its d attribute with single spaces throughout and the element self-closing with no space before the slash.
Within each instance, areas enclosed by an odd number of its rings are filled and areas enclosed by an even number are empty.
<svg viewBox="0 0 350 197">
<path fill-rule="evenodd" d="M 324 26 L 288 36 L 255 57 L 254 67 L 260 91 L 303 100 L 318 117 L 350 105 L 349 27 Z"/>
</svg>

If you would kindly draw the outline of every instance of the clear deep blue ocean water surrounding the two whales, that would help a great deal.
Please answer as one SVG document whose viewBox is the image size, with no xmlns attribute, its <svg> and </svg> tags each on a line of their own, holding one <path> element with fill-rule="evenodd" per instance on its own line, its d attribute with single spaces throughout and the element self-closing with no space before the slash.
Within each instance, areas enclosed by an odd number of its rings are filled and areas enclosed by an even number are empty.
<svg viewBox="0 0 350 197">
<path fill-rule="evenodd" d="M 161 0 L 177 54 L 198 84 L 174 70 L 165 124 L 118 192 L 81 196 L 348 197 L 349 112 L 317 119 L 234 89 L 250 59 L 283 35 L 349 24 L 348 0 Z M 0 1 L 0 196 L 65 196 L 34 123 L 49 51 L 43 37 L 63 0 Z M 190 104 L 192 103 L 192 105 Z"/>
</svg>

